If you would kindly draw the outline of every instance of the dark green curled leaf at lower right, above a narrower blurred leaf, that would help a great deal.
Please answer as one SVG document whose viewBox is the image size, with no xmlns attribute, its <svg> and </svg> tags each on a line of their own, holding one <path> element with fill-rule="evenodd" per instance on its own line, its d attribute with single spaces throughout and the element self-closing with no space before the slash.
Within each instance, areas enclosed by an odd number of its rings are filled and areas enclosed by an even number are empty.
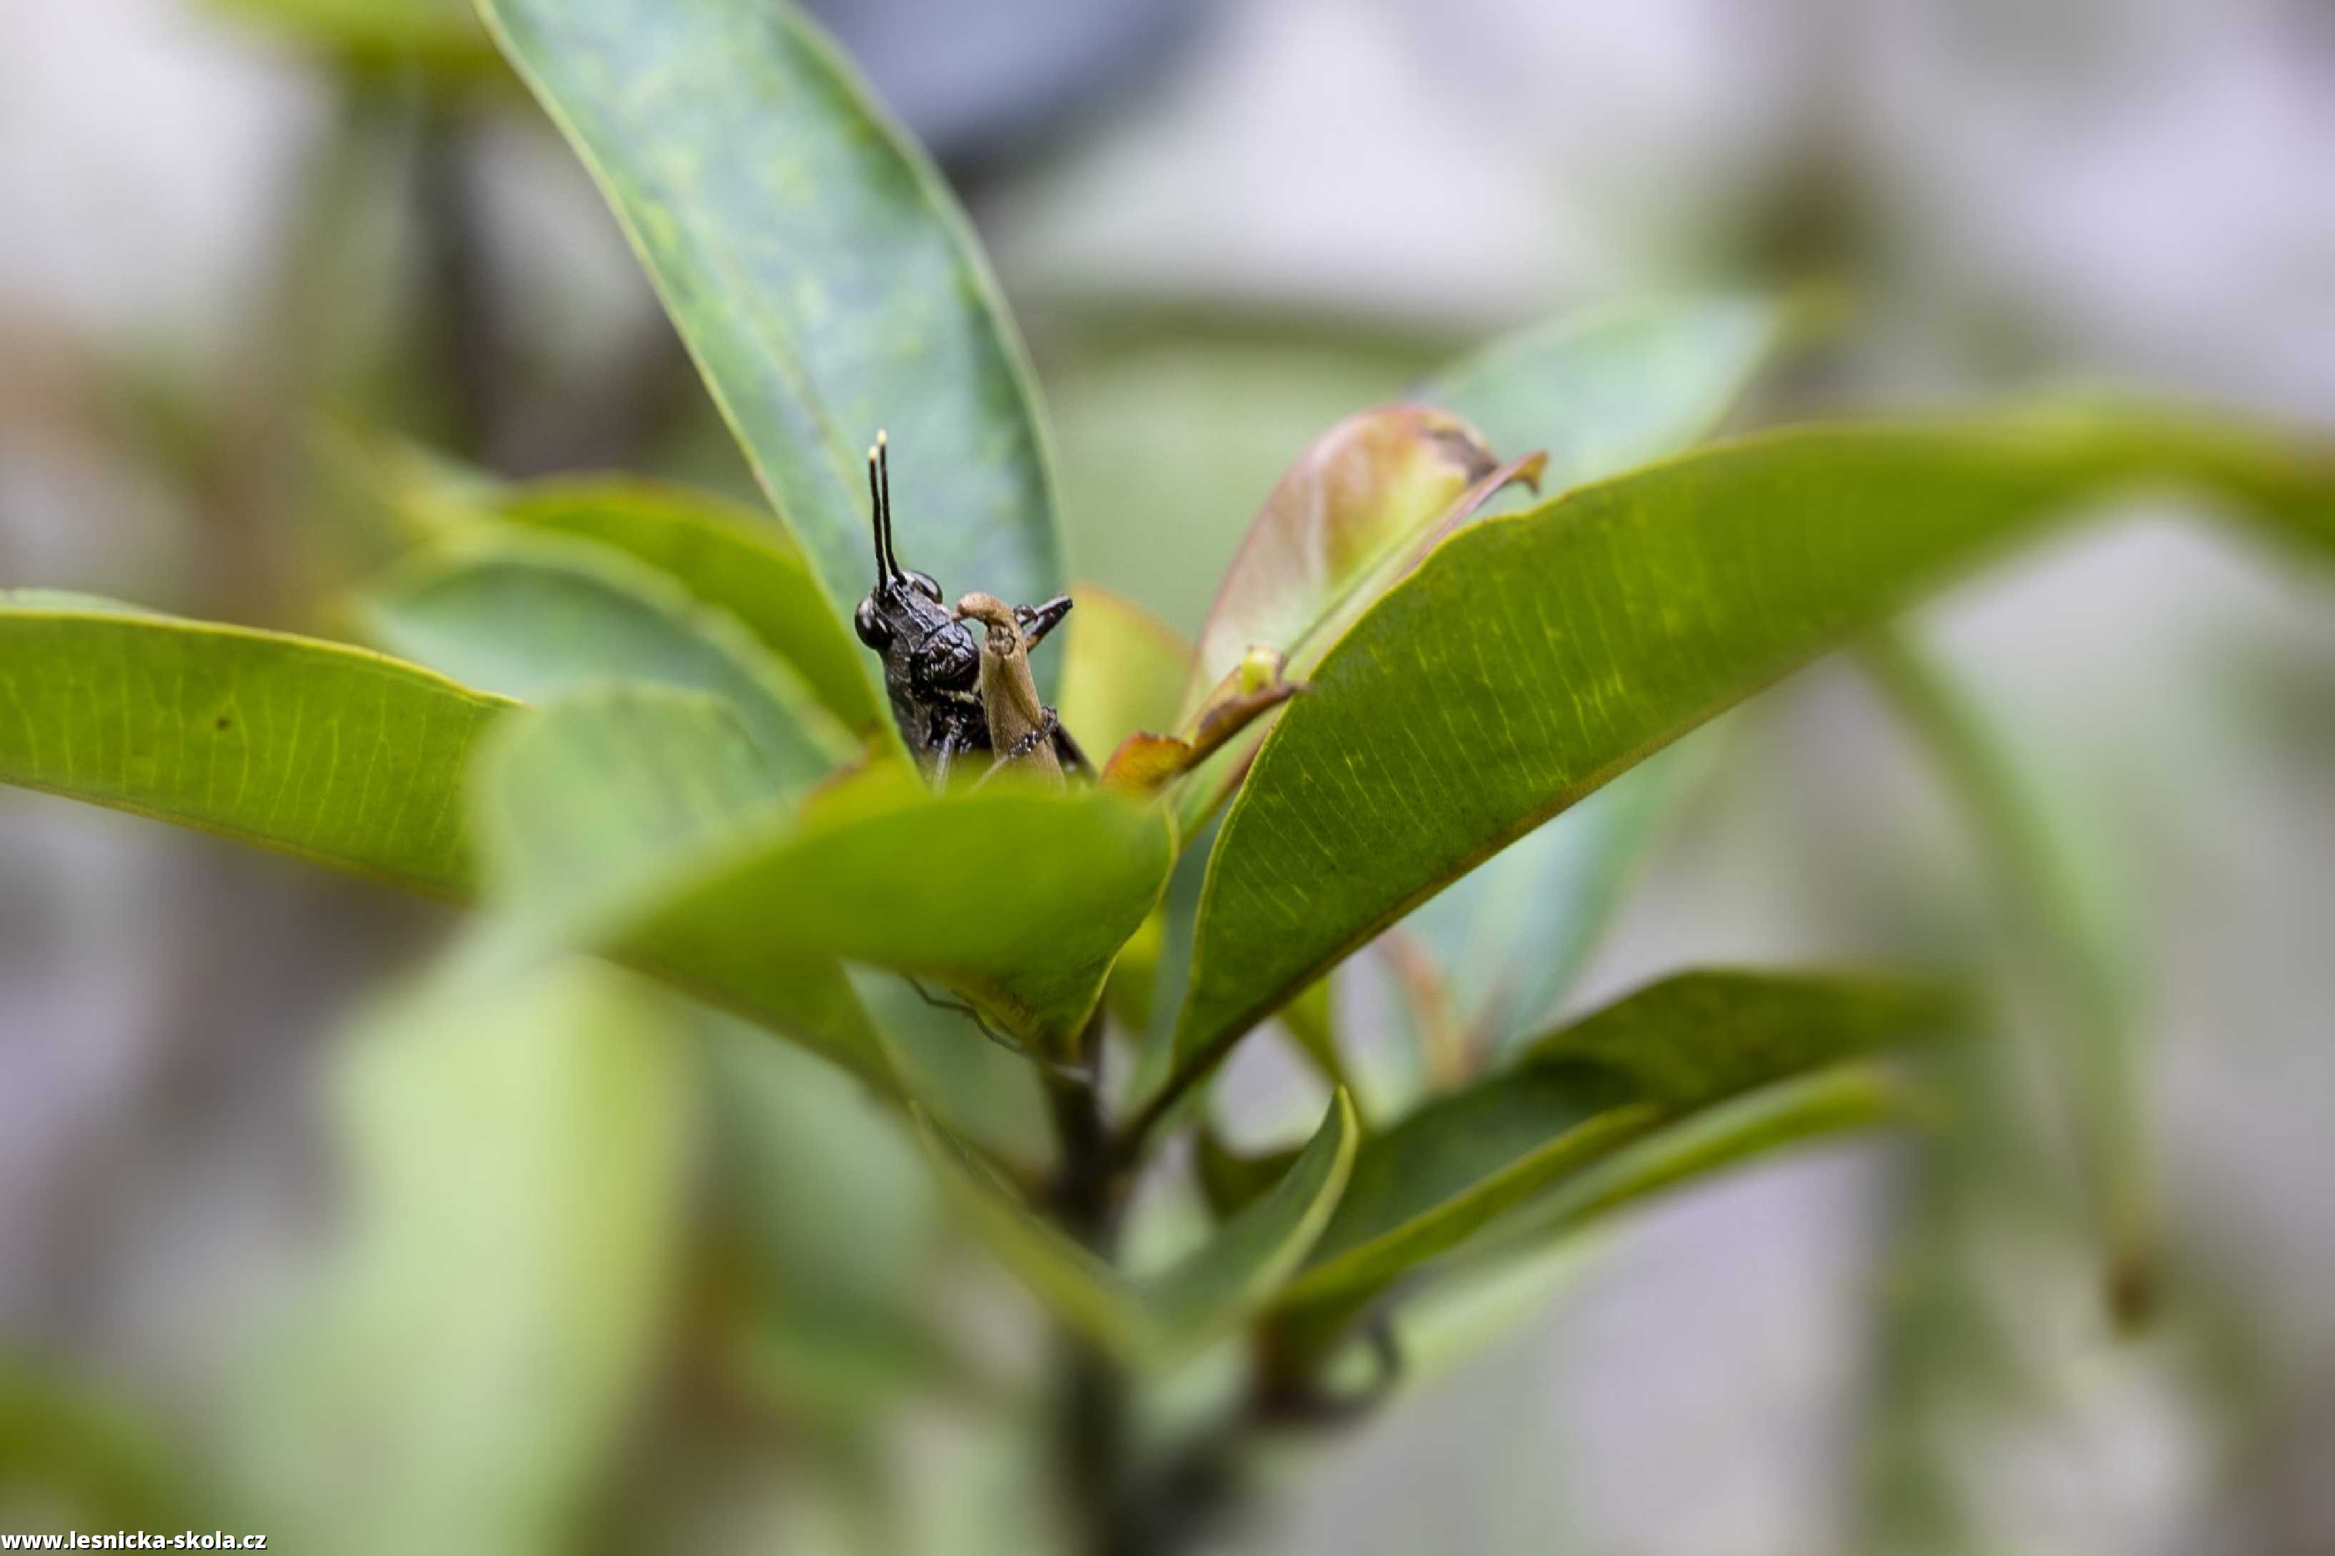
<svg viewBox="0 0 2335 1556">
<path fill-rule="evenodd" d="M 1938 1035 L 1957 1016 L 1943 991 L 1891 979 L 1686 972 L 1651 984 L 1371 1138 L 1280 1301 L 1375 1292 L 1665 1119 Z"/>
</svg>

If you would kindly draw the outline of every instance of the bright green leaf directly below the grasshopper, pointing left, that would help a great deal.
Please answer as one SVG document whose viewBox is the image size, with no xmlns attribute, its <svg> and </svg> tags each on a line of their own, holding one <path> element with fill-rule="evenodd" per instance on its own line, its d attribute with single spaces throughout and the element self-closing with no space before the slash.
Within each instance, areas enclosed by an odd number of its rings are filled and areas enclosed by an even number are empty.
<svg viewBox="0 0 2335 1556">
<path fill-rule="evenodd" d="M 946 979 L 1025 1044 L 1065 1054 L 1170 853 L 1165 815 L 1102 790 L 932 794 L 885 769 L 672 883 L 628 944 L 686 953 L 717 993 L 778 956 Z"/>
</svg>

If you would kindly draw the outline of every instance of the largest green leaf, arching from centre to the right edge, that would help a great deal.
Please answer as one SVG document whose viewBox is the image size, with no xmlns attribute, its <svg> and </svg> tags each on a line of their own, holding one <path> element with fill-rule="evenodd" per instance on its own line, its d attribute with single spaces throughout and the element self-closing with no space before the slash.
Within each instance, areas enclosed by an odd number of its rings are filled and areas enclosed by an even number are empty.
<svg viewBox="0 0 2335 1556">
<path fill-rule="evenodd" d="M 1179 1026 L 1186 1082 L 1548 815 L 2139 481 L 2197 484 L 2335 544 L 2335 465 L 2111 411 L 1803 428 L 1455 535 L 1331 650 L 1224 822 Z"/>
</svg>

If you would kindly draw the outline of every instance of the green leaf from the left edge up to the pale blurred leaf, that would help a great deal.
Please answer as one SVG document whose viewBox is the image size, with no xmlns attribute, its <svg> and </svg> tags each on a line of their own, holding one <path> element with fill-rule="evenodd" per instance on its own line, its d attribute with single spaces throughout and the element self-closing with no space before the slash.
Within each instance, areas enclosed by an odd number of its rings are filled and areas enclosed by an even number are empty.
<svg viewBox="0 0 2335 1556">
<path fill-rule="evenodd" d="M 0 780 L 460 897 L 462 771 L 509 708 L 369 650 L 0 607 Z"/>
</svg>

